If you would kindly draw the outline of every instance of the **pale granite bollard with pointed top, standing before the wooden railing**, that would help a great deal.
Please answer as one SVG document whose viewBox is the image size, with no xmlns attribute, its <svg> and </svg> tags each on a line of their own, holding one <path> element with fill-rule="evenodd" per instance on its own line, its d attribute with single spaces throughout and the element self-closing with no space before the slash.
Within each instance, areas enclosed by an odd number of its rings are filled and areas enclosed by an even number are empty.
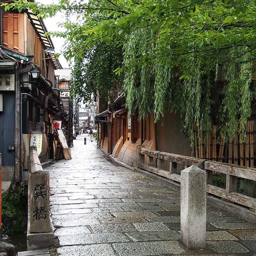
<svg viewBox="0 0 256 256">
<path fill-rule="evenodd" d="M 181 171 L 180 239 L 189 249 L 206 247 L 206 172 L 197 166 Z"/>
</svg>

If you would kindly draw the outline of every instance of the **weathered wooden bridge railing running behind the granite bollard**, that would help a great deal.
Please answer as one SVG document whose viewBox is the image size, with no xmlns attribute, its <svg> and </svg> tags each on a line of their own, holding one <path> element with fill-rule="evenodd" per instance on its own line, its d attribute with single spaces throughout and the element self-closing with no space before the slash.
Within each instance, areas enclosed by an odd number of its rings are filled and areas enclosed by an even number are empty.
<svg viewBox="0 0 256 256">
<path fill-rule="evenodd" d="M 146 158 L 145 158 L 146 157 Z M 157 167 L 154 167 L 154 158 Z M 145 161 L 145 159 L 147 159 Z M 164 169 L 164 161 L 169 162 L 169 171 Z M 256 210 L 256 198 L 237 193 L 237 178 L 245 178 L 256 181 L 256 169 L 244 166 L 237 166 L 228 163 L 219 163 L 211 160 L 195 157 L 186 157 L 161 151 L 154 151 L 137 146 L 137 168 L 153 172 L 157 175 L 175 180 L 180 183 L 180 171 L 177 163 L 184 165 L 184 169 L 195 165 L 207 172 L 207 192 L 212 195 L 227 199 L 237 204 L 244 205 Z M 212 185 L 212 173 L 226 175 L 226 189 Z"/>
</svg>

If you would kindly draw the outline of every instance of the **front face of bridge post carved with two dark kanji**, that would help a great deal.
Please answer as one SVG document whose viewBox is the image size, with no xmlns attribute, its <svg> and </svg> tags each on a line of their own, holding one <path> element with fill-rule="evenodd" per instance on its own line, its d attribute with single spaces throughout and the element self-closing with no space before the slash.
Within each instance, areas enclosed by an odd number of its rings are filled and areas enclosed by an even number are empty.
<svg viewBox="0 0 256 256">
<path fill-rule="evenodd" d="M 49 174 L 30 175 L 30 232 L 50 232 Z"/>
</svg>

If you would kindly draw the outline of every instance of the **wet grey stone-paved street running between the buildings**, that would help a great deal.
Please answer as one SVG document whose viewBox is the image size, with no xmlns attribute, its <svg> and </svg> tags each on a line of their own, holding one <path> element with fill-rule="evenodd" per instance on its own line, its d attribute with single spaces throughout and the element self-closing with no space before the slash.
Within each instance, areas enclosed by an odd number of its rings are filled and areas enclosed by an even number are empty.
<svg viewBox="0 0 256 256">
<path fill-rule="evenodd" d="M 71 154 L 45 168 L 61 256 L 256 256 L 256 225 L 211 206 L 207 248 L 187 250 L 179 192 L 111 163 L 85 134 Z"/>
</svg>

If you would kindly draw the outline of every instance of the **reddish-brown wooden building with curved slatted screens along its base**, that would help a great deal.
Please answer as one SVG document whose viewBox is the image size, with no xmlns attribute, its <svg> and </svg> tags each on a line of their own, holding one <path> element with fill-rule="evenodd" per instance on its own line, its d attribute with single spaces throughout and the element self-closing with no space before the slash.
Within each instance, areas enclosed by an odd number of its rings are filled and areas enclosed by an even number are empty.
<svg viewBox="0 0 256 256">
<path fill-rule="evenodd" d="M 114 101 L 115 108 L 98 109 L 98 145 L 106 154 L 112 154 L 112 157 L 129 166 L 135 166 L 137 145 L 156 149 L 156 126 L 153 115 L 140 122 L 137 114 L 129 115 L 124 102 L 123 94 L 119 93 Z"/>
</svg>

